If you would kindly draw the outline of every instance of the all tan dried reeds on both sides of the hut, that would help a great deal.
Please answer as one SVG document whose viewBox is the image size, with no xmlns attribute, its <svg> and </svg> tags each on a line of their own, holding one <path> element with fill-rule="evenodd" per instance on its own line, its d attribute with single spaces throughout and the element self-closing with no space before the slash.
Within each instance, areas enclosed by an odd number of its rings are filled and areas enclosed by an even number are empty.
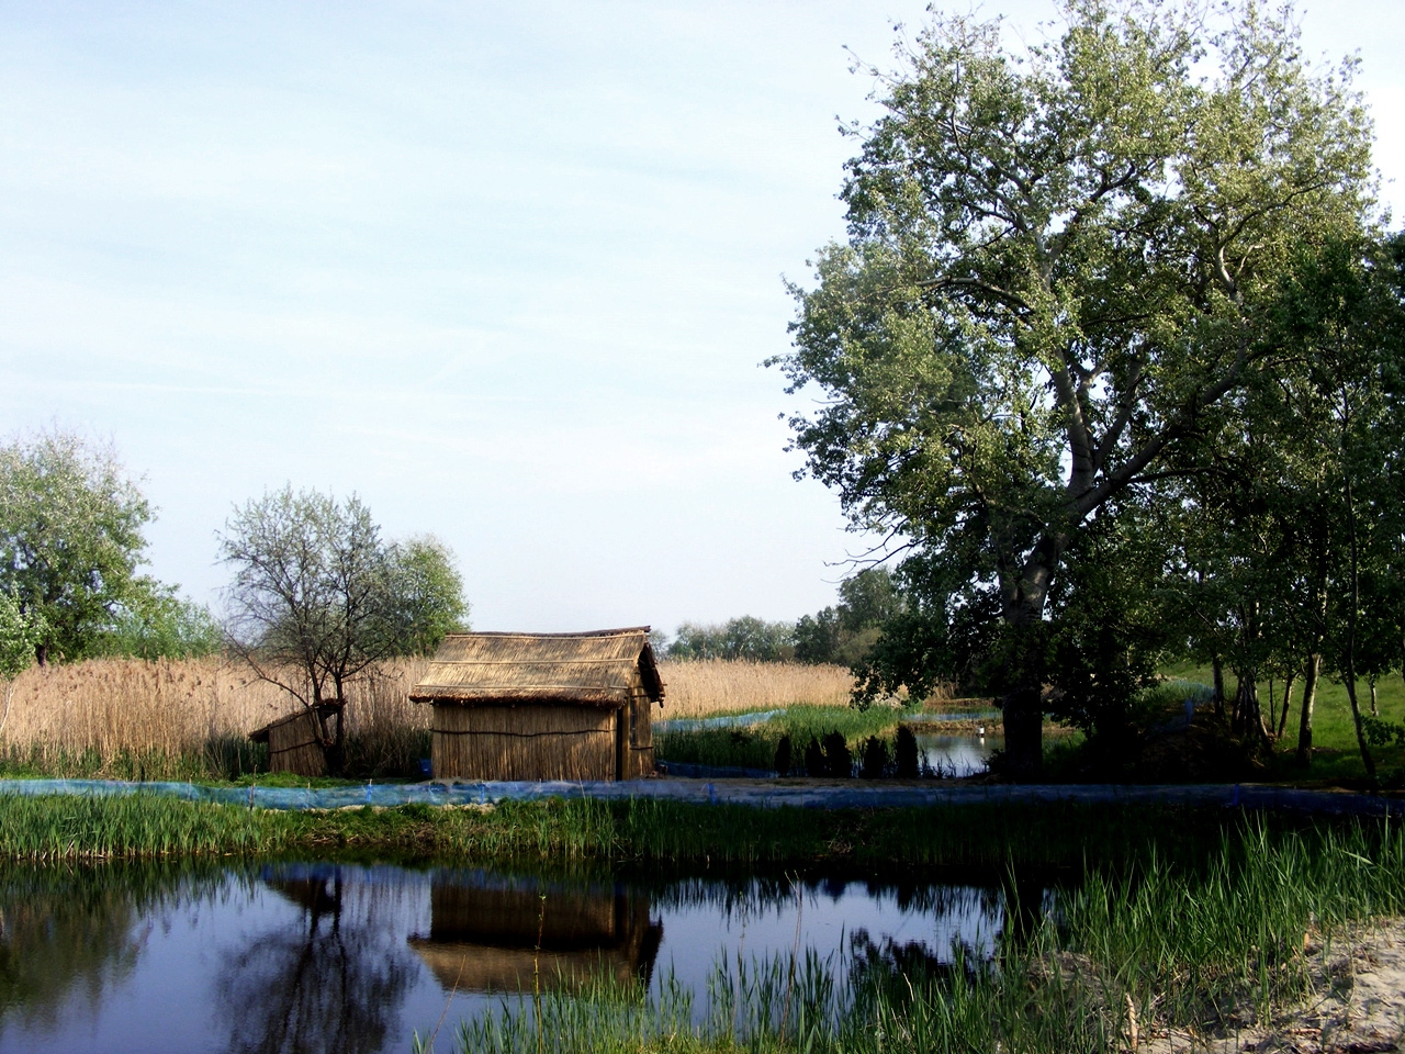
<svg viewBox="0 0 1405 1054">
<path fill-rule="evenodd" d="M 402 661 L 348 687 L 347 773 L 413 776 L 430 753 L 430 707 L 409 701 L 427 666 Z M 665 662 L 665 717 L 846 705 L 843 666 Z M 30 669 L 14 686 L 0 769 L 111 779 L 225 779 L 251 772 L 249 732 L 296 711 L 281 689 L 225 659 L 91 659 Z"/>
</svg>

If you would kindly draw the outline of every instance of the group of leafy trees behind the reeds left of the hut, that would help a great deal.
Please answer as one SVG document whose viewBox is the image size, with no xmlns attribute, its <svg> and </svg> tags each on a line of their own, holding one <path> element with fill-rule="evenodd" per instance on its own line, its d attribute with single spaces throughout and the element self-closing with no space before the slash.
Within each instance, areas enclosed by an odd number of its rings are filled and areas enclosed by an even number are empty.
<svg viewBox="0 0 1405 1054">
<path fill-rule="evenodd" d="M 0 676 L 97 656 L 229 651 L 316 705 L 393 656 L 466 628 L 454 554 L 386 540 L 361 499 L 285 486 L 216 537 L 228 617 L 140 573 L 155 510 L 111 445 L 63 430 L 0 445 Z"/>
</svg>

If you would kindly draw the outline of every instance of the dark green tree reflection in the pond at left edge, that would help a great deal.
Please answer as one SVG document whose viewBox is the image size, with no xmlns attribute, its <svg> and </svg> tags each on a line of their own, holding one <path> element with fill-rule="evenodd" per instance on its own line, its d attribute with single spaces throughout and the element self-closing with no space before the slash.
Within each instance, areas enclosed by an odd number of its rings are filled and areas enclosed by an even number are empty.
<svg viewBox="0 0 1405 1054">
<path fill-rule="evenodd" d="M 212 887 L 162 864 L 0 867 L 0 1036 L 51 1030 L 74 996 L 96 1009 L 136 967 L 136 920 Z M 216 877 L 218 878 L 218 877 Z"/>
</svg>

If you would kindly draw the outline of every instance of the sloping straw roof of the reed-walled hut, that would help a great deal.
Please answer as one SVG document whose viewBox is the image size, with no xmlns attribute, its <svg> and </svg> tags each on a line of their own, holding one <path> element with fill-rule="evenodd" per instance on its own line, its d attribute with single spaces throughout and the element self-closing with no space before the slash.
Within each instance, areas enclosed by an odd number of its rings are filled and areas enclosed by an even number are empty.
<svg viewBox="0 0 1405 1054">
<path fill-rule="evenodd" d="M 663 698 L 646 625 L 582 634 L 451 634 L 410 700 L 622 707 L 641 682 L 651 700 Z"/>
</svg>

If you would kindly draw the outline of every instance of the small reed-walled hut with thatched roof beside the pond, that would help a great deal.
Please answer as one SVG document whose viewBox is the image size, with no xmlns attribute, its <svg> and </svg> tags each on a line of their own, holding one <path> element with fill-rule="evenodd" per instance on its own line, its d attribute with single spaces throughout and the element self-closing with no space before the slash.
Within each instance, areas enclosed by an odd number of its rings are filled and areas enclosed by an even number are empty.
<svg viewBox="0 0 1405 1054">
<path fill-rule="evenodd" d="M 653 772 L 663 682 L 649 628 L 452 634 L 410 691 L 434 705 L 441 780 L 631 780 Z"/>
</svg>

